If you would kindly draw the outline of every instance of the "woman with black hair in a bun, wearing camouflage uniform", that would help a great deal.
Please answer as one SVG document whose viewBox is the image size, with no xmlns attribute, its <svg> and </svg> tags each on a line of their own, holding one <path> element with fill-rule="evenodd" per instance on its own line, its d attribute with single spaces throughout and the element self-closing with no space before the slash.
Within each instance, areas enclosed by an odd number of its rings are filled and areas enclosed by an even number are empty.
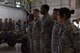
<svg viewBox="0 0 80 53">
<path fill-rule="evenodd" d="M 80 53 L 80 32 L 69 20 L 73 13 L 66 7 L 59 10 L 58 53 Z"/>
</svg>

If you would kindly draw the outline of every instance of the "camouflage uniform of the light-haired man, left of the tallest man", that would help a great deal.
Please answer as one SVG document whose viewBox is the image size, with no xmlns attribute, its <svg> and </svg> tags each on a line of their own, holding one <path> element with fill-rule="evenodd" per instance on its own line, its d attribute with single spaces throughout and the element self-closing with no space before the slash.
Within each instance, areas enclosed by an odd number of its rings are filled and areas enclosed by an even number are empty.
<svg viewBox="0 0 80 53">
<path fill-rule="evenodd" d="M 32 39 L 33 39 L 33 50 L 34 53 L 41 53 L 40 51 L 40 31 L 41 31 L 41 21 L 38 19 L 34 20 Z"/>
</svg>

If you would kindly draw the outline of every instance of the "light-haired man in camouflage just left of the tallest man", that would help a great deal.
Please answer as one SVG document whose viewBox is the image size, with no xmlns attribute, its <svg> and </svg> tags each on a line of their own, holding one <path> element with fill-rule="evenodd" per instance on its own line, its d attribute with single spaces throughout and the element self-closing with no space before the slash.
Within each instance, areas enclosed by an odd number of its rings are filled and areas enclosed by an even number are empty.
<svg viewBox="0 0 80 53">
<path fill-rule="evenodd" d="M 40 51 L 40 31 L 41 31 L 41 22 L 40 22 L 40 11 L 38 9 L 33 10 L 34 16 L 34 25 L 32 30 L 32 39 L 33 39 L 33 49 L 34 53 L 41 53 Z"/>
</svg>

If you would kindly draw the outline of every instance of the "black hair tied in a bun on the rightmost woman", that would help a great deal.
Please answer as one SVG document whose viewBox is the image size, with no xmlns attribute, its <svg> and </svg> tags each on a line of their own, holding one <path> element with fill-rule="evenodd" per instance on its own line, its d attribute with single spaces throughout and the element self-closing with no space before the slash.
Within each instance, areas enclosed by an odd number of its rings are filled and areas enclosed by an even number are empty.
<svg viewBox="0 0 80 53">
<path fill-rule="evenodd" d="M 74 14 L 75 10 L 70 10 L 67 7 L 62 7 L 59 9 L 59 15 L 64 16 L 67 19 L 71 17 L 71 14 Z"/>
</svg>

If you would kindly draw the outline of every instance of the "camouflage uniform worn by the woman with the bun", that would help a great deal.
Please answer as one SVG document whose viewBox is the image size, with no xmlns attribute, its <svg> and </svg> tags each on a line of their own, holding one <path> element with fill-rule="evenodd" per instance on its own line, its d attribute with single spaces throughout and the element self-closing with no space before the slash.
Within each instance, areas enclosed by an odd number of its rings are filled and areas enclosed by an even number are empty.
<svg viewBox="0 0 80 53">
<path fill-rule="evenodd" d="M 59 30 L 58 53 L 80 53 L 80 34 L 70 22 Z"/>
</svg>

